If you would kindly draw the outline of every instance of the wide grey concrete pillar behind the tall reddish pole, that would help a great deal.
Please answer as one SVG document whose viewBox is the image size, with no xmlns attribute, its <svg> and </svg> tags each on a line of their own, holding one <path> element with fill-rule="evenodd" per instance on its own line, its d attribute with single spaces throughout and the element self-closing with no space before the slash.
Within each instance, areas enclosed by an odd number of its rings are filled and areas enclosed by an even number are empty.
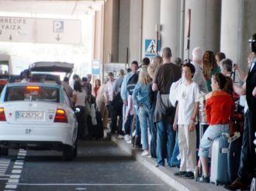
<svg viewBox="0 0 256 191">
<path fill-rule="evenodd" d="M 187 18 L 188 9 L 191 9 L 189 55 L 196 46 L 200 46 L 203 50 L 212 50 L 214 53 L 220 51 L 221 0 L 187 0 L 185 18 Z M 230 15 L 231 17 L 232 15 Z M 187 26 L 185 26 L 185 47 L 187 43 L 186 34 Z M 188 55 L 187 51 L 184 55 Z"/>
</svg>

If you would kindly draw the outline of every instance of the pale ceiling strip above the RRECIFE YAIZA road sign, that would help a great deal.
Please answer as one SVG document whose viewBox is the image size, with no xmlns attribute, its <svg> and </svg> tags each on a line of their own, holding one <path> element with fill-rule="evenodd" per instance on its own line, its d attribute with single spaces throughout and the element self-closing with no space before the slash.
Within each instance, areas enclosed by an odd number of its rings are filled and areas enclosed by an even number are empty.
<svg viewBox="0 0 256 191">
<path fill-rule="evenodd" d="M 0 12 L 33 15 L 88 15 L 100 10 L 104 0 L 0 0 Z"/>
</svg>

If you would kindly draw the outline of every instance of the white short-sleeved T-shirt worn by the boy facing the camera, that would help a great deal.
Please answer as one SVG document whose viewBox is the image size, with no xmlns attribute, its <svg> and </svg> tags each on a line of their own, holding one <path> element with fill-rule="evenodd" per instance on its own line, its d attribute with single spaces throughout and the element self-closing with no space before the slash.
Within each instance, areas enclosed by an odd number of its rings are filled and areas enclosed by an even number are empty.
<svg viewBox="0 0 256 191">
<path fill-rule="evenodd" d="M 190 124 L 195 103 L 199 102 L 199 86 L 192 84 L 185 85 L 182 83 L 178 87 L 178 124 Z"/>
</svg>

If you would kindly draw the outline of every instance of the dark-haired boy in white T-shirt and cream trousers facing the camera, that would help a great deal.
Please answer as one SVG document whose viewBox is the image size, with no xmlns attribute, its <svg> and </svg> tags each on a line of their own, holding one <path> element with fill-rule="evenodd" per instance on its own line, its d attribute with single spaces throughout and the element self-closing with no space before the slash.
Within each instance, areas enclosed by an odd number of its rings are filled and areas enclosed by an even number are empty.
<svg viewBox="0 0 256 191">
<path fill-rule="evenodd" d="M 178 128 L 178 146 L 181 155 L 179 172 L 175 176 L 194 179 L 196 164 L 196 131 L 195 119 L 199 111 L 199 86 L 192 80 L 195 67 L 192 63 L 182 66 L 183 83 L 178 88 L 175 122 L 173 128 Z"/>
</svg>

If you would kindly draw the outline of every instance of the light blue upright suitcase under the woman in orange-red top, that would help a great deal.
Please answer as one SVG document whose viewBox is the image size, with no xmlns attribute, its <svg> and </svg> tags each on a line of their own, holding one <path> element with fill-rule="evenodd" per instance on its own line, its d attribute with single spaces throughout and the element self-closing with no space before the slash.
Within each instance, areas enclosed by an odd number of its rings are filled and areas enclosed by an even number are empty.
<svg viewBox="0 0 256 191">
<path fill-rule="evenodd" d="M 227 172 L 227 153 L 229 135 L 222 134 L 213 141 L 210 182 L 229 184 L 230 177 Z"/>
</svg>

